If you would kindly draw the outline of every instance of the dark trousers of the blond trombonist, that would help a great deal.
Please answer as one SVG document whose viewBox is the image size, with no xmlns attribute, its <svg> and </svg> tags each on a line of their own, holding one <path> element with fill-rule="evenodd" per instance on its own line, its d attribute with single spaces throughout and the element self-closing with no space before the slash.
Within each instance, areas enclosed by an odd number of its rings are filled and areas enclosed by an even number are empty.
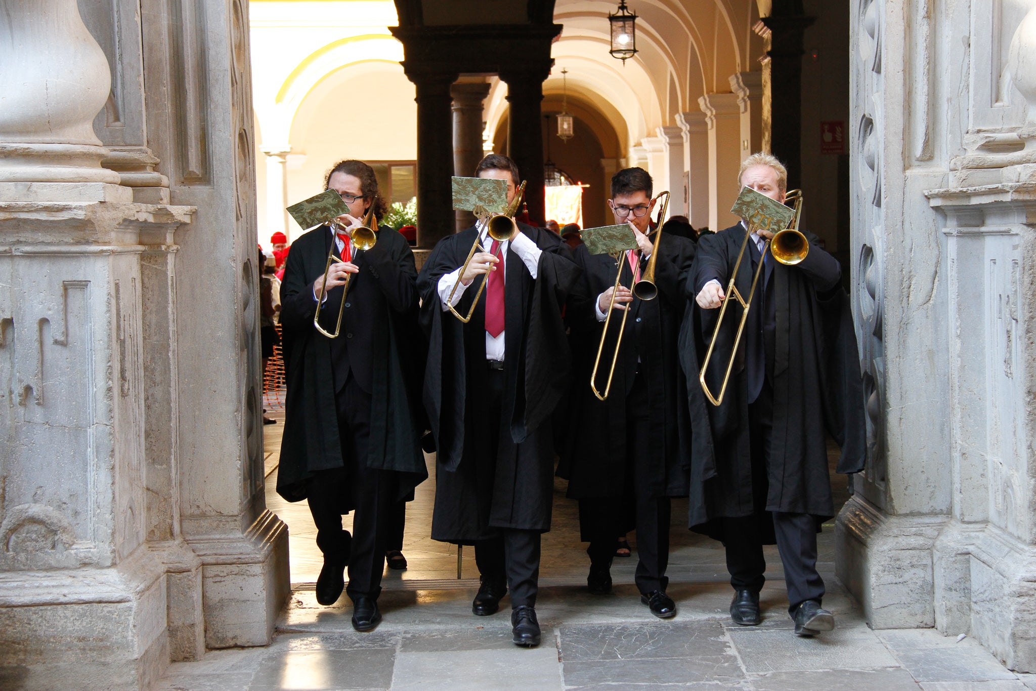
<svg viewBox="0 0 1036 691">
<path fill-rule="evenodd" d="M 766 582 L 767 569 L 762 556 L 764 521 L 773 521 L 777 549 L 784 565 L 788 612 L 793 615 L 806 600 L 819 602 L 824 598 L 824 579 L 816 572 L 816 521 L 809 514 L 768 512 L 767 467 L 770 462 L 770 438 L 773 428 L 773 390 L 765 383 L 759 397 L 748 406 L 752 454 L 752 493 L 755 514 L 740 518 L 724 518 L 723 544 L 726 546 L 726 569 L 730 585 L 758 593 Z"/>
</svg>

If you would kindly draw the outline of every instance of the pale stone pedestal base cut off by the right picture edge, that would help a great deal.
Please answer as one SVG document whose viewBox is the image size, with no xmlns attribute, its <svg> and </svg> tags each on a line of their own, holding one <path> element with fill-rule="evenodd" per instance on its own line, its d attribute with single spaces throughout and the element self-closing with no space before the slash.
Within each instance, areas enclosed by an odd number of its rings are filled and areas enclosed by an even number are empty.
<svg viewBox="0 0 1036 691">
<path fill-rule="evenodd" d="M 971 635 L 1010 669 L 1036 672 L 1036 547 L 987 523 L 951 521 L 932 564 L 937 628 Z"/>
</svg>

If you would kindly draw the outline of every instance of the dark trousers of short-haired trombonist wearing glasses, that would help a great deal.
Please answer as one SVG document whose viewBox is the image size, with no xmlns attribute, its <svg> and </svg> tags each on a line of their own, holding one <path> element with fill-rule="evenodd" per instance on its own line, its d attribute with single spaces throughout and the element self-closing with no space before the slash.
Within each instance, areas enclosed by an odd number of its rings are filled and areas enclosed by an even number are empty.
<svg viewBox="0 0 1036 691">
<path fill-rule="evenodd" d="M 611 565 L 615 554 L 615 536 L 625 535 L 626 517 L 631 513 L 637 530 L 637 587 L 643 594 L 665 591 L 669 579 L 670 502 L 667 496 L 655 496 L 648 487 L 642 468 L 649 467 L 648 440 L 653 434 L 649 413 L 648 386 L 636 375 L 626 400 L 626 486 L 625 497 L 592 497 L 579 499 L 579 525 L 583 540 L 589 540 L 586 553 L 597 567 Z M 654 432 L 654 433 L 657 433 Z"/>
</svg>

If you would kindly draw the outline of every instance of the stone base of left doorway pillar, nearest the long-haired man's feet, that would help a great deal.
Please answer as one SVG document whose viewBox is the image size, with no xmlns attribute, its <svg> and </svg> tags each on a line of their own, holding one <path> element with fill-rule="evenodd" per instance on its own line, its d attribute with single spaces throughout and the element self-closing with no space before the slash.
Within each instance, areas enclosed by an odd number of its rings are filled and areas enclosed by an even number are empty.
<svg viewBox="0 0 1036 691">
<path fill-rule="evenodd" d="M 243 536 L 186 542 L 203 565 L 205 646 L 267 645 L 291 595 L 288 526 L 263 511 Z"/>
</svg>

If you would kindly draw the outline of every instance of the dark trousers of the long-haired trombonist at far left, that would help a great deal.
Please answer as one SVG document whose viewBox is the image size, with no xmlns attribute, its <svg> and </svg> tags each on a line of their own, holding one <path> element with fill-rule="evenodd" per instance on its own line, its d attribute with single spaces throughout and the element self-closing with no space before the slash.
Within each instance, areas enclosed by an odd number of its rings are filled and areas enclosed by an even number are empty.
<svg viewBox="0 0 1036 691">
<path fill-rule="evenodd" d="M 381 593 L 388 525 L 397 506 L 396 482 L 391 471 L 367 466 L 370 394 L 350 375 L 335 397 L 335 405 L 344 466 L 318 470 L 308 481 L 317 547 L 325 556 L 349 549 L 349 532 L 342 529 L 342 514 L 351 507 L 354 513 L 346 593 L 353 600 L 362 595 L 377 598 Z"/>
</svg>

